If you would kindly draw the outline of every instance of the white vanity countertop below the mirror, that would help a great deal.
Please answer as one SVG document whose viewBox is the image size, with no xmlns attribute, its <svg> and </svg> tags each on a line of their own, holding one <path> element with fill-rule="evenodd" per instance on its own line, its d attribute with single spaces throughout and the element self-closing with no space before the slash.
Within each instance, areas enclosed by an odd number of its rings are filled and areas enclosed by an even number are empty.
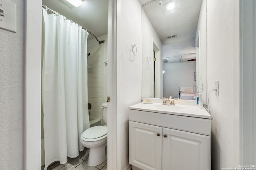
<svg viewBox="0 0 256 170">
<path fill-rule="evenodd" d="M 153 103 L 153 104 L 139 103 L 139 104 L 130 106 L 129 109 L 212 119 L 212 116 L 206 111 L 206 109 L 204 108 L 200 109 L 198 108 L 198 106 L 188 106 L 188 105 L 178 105 L 178 104 L 176 104 L 175 106 L 171 106 L 171 105 L 163 105 L 162 103 Z"/>
</svg>

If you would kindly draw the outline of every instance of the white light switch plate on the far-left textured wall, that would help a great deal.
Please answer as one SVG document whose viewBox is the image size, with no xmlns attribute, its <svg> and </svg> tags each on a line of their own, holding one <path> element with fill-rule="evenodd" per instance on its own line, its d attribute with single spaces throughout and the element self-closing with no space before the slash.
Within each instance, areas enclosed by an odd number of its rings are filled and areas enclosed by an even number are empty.
<svg viewBox="0 0 256 170">
<path fill-rule="evenodd" d="M 16 4 L 0 0 L 0 28 L 16 33 Z"/>
</svg>

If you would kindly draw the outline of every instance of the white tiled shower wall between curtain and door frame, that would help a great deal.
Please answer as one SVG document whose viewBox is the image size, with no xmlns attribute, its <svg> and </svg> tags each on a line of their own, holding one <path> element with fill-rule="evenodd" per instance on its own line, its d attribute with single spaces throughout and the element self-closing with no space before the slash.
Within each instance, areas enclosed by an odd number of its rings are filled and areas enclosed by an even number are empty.
<svg viewBox="0 0 256 170">
<path fill-rule="evenodd" d="M 103 119 L 102 103 L 107 102 L 107 61 L 108 35 L 97 37 L 104 43 L 99 44 L 96 39 L 88 41 L 88 103 L 92 104 L 91 117 Z"/>
</svg>

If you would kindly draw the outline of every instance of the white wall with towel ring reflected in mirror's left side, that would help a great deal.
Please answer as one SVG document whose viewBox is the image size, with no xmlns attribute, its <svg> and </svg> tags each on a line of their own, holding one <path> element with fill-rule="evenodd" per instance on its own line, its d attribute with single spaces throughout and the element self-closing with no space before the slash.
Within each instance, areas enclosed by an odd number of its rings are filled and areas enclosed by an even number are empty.
<svg viewBox="0 0 256 170">
<path fill-rule="evenodd" d="M 160 58 L 157 61 L 160 62 L 159 66 L 160 70 L 162 70 L 162 42 L 150 23 L 148 16 L 142 10 L 142 98 L 154 98 L 153 43 L 160 50 Z M 162 82 L 162 74 L 158 75 L 158 78 Z"/>
</svg>

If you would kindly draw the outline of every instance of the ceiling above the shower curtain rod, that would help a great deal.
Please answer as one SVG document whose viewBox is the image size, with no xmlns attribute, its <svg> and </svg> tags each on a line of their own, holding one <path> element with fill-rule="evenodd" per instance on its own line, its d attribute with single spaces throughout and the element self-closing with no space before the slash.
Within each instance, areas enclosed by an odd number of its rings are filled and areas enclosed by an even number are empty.
<svg viewBox="0 0 256 170">
<path fill-rule="evenodd" d="M 108 33 L 108 0 L 85 0 L 77 8 L 69 8 L 58 0 L 42 0 L 42 4 L 88 29 L 96 37 Z M 92 38 L 89 35 L 88 39 Z"/>
</svg>

